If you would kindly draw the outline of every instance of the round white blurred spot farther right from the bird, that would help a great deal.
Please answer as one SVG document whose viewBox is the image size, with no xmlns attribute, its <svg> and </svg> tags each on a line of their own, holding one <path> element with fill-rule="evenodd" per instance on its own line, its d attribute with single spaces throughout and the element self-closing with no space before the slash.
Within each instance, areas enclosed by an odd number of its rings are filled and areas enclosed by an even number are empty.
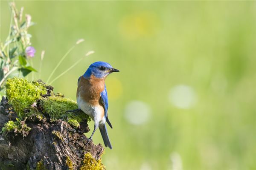
<svg viewBox="0 0 256 170">
<path fill-rule="evenodd" d="M 177 108 L 191 108 L 197 102 L 194 89 L 188 85 L 177 85 L 170 90 L 169 101 Z"/>
</svg>

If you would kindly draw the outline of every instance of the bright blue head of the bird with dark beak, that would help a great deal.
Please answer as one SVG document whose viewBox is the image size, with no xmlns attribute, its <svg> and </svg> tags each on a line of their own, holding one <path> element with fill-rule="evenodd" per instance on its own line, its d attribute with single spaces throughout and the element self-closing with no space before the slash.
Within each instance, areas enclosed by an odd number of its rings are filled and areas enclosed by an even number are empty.
<svg viewBox="0 0 256 170">
<path fill-rule="evenodd" d="M 89 66 L 84 73 L 84 78 L 90 78 L 91 75 L 96 78 L 105 78 L 113 72 L 119 72 L 119 70 L 113 68 L 108 62 L 98 61 Z"/>
</svg>

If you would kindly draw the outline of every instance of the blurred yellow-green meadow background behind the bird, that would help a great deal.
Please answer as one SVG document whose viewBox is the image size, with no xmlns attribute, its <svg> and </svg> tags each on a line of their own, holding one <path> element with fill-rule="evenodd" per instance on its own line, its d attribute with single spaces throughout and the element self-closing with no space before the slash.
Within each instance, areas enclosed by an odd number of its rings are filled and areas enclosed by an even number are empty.
<svg viewBox="0 0 256 170">
<path fill-rule="evenodd" d="M 1 0 L 0 39 L 10 24 Z M 256 2 L 17 1 L 36 23 L 33 63 L 46 81 L 87 51 L 52 85 L 76 100 L 90 63 L 109 62 L 108 170 L 256 169 Z M 29 75 L 32 79 L 32 75 Z M 91 129 L 93 123 L 90 123 Z M 91 133 L 91 132 L 89 132 Z M 99 130 L 93 141 L 103 143 Z"/>
</svg>

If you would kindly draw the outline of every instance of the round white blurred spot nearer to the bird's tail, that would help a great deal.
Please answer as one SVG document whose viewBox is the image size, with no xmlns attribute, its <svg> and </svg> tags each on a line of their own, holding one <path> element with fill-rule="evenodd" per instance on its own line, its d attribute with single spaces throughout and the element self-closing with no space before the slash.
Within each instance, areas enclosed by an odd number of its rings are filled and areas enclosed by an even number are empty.
<svg viewBox="0 0 256 170">
<path fill-rule="evenodd" d="M 141 125 L 148 122 L 150 116 L 151 108 L 145 102 L 134 100 L 125 107 L 125 118 L 133 125 Z"/>
</svg>

